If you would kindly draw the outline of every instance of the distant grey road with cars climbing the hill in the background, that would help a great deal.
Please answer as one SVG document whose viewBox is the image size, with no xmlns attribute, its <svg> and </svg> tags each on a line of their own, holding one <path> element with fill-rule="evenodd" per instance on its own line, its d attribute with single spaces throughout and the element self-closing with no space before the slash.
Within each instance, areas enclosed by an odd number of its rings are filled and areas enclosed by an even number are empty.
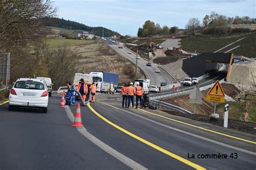
<svg viewBox="0 0 256 170">
<path fill-rule="evenodd" d="M 129 50 L 126 48 L 118 48 L 116 43 L 111 41 L 104 41 L 107 43 L 112 49 L 117 51 L 122 56 L 125 56 L 126 59 L 129 59 L 131 62 L 136 63 L 136 54 L 128 54 Z M 152 63 L 152 66 L 146 66 L 148 61 L 144 60 L 143 58 L 138 59 L 138 66 L 144 70 L 144 72 L 150 77 L 151 85 L 152 86 L 160 86 L 161 82 L 167 82 L 167 84 L 172 84 L 172 81 L 168 76 L 164 73 L 155 73 L 157 68 L 157 64 Z"/>
</svg>

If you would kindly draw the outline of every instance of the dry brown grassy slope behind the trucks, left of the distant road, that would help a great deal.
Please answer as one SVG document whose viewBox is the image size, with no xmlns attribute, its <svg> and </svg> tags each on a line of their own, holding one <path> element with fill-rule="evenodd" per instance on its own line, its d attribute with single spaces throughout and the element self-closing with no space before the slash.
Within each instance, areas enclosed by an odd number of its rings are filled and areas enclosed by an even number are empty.
<svg viewBox="0 0 256 170">
<path fill-rule="evenodd" d="M 135 67 L 102 42 L 72 47 L 80 54 L 77 71 L 90 73 L 92 70 L 119 74 L 119 84 L 134 81 Z M 137 77 L 144 77 L 138 70 Z"/>
</svg>

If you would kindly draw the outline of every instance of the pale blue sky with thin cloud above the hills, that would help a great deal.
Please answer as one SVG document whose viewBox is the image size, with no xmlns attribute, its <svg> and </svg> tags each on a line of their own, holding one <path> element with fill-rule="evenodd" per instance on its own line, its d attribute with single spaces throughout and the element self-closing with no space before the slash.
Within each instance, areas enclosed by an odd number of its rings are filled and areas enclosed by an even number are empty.
<svg viewBox="0 0 256 170">
<path fill-rule="evenodd" d="M 227 17 L 256 18 L 256 0 L 53 0 L 57 17 L 87 26 L 103 26 L 122 35 L 137 36 L 146 20 L 184 29 L 190 18 L 202 22 L 215 11 Z"/>
</svg>

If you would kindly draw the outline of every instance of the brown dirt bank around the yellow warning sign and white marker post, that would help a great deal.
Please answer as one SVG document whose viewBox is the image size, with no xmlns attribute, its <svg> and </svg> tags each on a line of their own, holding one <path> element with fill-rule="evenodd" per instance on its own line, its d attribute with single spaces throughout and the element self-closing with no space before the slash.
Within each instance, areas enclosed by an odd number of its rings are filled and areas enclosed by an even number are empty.
<svg viewBox="0 0 256 170">
<path fill-rule="evenodd" d="M 221 84 L 221 87 L 223 87 L 225 95 L 231 96 L 233 98 L 237 97 L 241 92 L 238 88 L 234 87 L 232 84 L 226 84 L 226 83 Z M 206 96 L 207 96 L 208 90 L 210 90 L 210 89 L 201 91 L 205 100 L 203 101 L 203 104 L 196 105 L 196 111 L 195 111 L 196 114 L 194 114 L 194 115 L 181 114 L 180 112 L 177 112 L 177 111 L 169 111 L 169 113 L 172 115 L 191 118 L 191 119 L 201 121 L 201 122 L 207 122 L 207 123 L 211 123 L 214 125 L 223 126 L 223 112 L 224 112 L 224 105 L 226 104 L 226 102 L 217 104 L 217 113 L 220 115 L 219 120 L 217 122 L 210 121 L 210 115 L 213 113 L 213 102 L 206 101 Z M 186 110 L 193 112 L 194 104 L 188 103 L 188 98 L 187 98 L 188 96 L 189 95 L 169 98 L 169 99 L 166 99 L 165 102 L 171 103 L 173 105 L 177 105 L 181 108 L 184 108 Z M 251 119 L 251 122 L 243 122 L 242 119 L 239 118 L 239 116 L 241 116 L 241 114 L 240 114 L 239 110 L 235 108 L 234 103 L 239 104 L 238 102 L 230 103 L 230 110 L 229 110 L 229 115 L 228 115 L 228 117 L 229 117 L 228 128 L 256 134 L 256 129 L 254 129 L 254 128 L 256 128 L 256 124 L 253 123 L 253 119 Z M 245 104 L 239 104 L 238 107 L 245 108 Z M 251 109 L 253 109 L 253 107 L 251 107 Z M 252 114 L 254 114 L 253 111 L 251 111 L 251 112 L 252 112 Z M 253 115 L 251 115 L 251 116 L 253 116 Z"/>
</svg>

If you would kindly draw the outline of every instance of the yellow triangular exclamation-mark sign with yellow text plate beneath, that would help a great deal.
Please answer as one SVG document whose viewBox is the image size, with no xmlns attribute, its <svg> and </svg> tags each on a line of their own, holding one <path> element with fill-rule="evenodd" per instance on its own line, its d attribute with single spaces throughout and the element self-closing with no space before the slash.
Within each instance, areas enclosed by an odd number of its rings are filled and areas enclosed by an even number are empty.
<svg viewBox="0 0 256 170">
<path fill-rule="evenodd" d="M 211 90 L 208 92 L 207 101 L 225 102 L 225 94 L 219 81 L 216 81 Z"/>
</svg>

